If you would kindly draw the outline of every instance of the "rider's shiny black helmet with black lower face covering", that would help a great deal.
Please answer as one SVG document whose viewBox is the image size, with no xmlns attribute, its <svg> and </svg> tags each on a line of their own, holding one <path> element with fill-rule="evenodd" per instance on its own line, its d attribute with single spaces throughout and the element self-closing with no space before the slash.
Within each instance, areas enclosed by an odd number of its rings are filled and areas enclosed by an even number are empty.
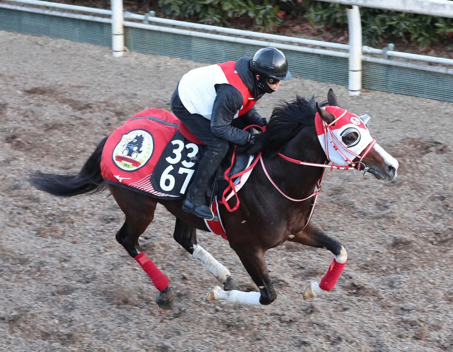
<svg viewBox="0 0 453 352">
<path fill-rule="evenodd" d="M 260 75 L 257 82 L 258 88 L 266 93 L 272 93 L 272 90 L 266 81 L 271 79 L 286 81 L 291 78 L 288 71 L 288 60 L 280 50 L 272 47 L 258 50 L 250 61 L 250 69 Z"/>
</svg>

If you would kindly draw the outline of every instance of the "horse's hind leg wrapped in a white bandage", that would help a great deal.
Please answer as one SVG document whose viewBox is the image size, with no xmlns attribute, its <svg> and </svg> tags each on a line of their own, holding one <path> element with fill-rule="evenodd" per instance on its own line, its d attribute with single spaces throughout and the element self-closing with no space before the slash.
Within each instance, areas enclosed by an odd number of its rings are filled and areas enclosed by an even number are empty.
<svg viewBox="0 0 453 352">
<path fill-rule="evenodd" d="M 195 228 L 187 225 L 183 221 L 176 219 L 173 238 L 179 243 L 193 258 L 201 263 L 212 275 L 223 284 L 225 291 L 239 290 L 240 287 L 231 278 L 230 270 L 225 268 L 210 253 L 196 242 Z"/>
</svg>

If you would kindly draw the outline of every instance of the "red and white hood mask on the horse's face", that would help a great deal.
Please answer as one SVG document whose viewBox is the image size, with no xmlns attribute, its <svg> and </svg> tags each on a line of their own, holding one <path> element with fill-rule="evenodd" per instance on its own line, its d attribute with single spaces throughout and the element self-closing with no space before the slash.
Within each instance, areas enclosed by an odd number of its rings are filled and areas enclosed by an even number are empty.
<svg viewBox="0 0 453 352">
<path fill-rule="evenodd" d="M 365 123 L 357 115 L 337 106 L 323 109 L 335 116 L 330 124 L 323 121 L 319 113 L 315 116 L 316 132 L 327 159 L 338 165 L 352 165 L 355 158 L 365 157 L 376 143 Z"/>
</svg>

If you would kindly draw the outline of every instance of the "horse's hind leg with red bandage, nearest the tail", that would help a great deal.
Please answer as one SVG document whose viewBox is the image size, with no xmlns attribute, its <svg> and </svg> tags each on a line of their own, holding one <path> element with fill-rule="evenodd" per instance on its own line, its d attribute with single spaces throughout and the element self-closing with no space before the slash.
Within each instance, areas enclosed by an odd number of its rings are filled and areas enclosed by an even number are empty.
<svg viewBox="0 0 453 352">
<path fill-rule="evenodd" d="M 154 218 L 157 200 L 111 185 L 109 185 L 109 189 L 126 216 L 126 221 L 116 234 L 116 240 L 140 264 L 154 287 L 159 290 L 156 299 L 157 305 L 164 311 L 172 309 L 173 292 L 168 286 L 168 279 L 143 252 L 138 243 L 138 238 Z"/>
</svg>

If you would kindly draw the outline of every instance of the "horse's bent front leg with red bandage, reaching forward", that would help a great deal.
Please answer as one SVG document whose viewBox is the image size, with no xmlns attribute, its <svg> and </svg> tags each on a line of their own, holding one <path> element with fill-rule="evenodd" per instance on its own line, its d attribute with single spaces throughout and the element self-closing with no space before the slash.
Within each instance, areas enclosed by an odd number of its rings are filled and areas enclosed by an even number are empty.
<svg viewBox="0 0 453 352">
<path fill-rule="evenodd" d="M 316 226 L 308 224 L 307 227 L 295 235 L 290 235 L 289 241 L 301 243 L 310 247 L 324 248 L 332 252 L 334 259 L 323 276 L 320 283 L 313 281 L 304 290 L 304 299 L 310 299 L 318 296 L 323 291 L 331 291 L 338 281 L 343 268 L 348 259 L 346 248 L 338 242 L 327 236 Z"/>
</svg>

